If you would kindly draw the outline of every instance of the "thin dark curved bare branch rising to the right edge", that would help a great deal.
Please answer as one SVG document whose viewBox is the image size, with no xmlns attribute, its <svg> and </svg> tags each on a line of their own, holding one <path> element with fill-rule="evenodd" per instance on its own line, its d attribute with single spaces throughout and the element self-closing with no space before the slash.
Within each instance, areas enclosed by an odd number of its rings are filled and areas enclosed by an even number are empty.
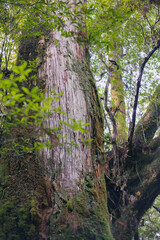
<svg viewBox="0 0 160 240">
<path fill-rule="evenodd" d="M 139 89 L 140 89 L 140 86 L 141 86 L 143 71 L 144 71 L 146 63 L 149 61 L 151 56 L 154 54 L 154 52 L 159 47 L 160 47 L 160 39 L 158 40 L 157 45 L 152 49 L 152 51 L 149 52 L 147 57 L 145 57 L 142 65 L 140 67 L 140 70 L 139 70 L 139 76 L 138 76 L 138 79 L 137 79 L 137 86 L 136 86 L 135 99 L 134 99 L 134 105 L 133 105 L 132 122 L 130 124 L 130 134 L 129 134 L 129 138 L 128 138 L 128 142 L 129 142 L 130 146 L 132 144 L 132 139 L 133 139 L 133 134 L 134 134 L 134 129 L 135 129 L 136 111 L 137 111 L 137 105 L 138 105 Z"/>
</svg>

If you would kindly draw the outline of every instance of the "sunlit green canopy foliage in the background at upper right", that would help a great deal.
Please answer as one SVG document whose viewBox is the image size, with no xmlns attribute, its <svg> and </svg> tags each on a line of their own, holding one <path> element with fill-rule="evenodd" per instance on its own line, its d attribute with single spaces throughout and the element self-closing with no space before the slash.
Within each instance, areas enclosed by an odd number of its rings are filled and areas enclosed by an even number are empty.
<svg viewBox="0 0 160 240">
<path fill-rule="evenodd" d="M 159 39 L 159 5 L 149 5 L 148 1 L 89 1 L 88 8 L 91 10 L 87 18 L 91 67 L 97 85 L 105 86 L 110 73 L 115 72 L 111 63 L 114 60 L 123 81 L 124 90 L 118 91 L 125 97 L 129 127 L 139 67 Z M 159 83 L 159 60 L 156 52 L 145 67 L 138 120 Z M 110 86 L 113 84 L 116 83 L 111 82 Z"/>
</svg>

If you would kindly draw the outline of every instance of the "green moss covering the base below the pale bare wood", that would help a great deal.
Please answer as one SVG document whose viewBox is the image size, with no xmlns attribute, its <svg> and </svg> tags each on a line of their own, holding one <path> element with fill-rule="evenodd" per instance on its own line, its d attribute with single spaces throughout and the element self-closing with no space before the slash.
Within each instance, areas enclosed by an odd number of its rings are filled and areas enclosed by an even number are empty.
<svg viewBox="0 0 160 240">
<path fill-rule="evenodd" d="M 56 222 L 54 216 L 51 217 L 51 225 L 54 226 L 51 236 L 54 240 L 113 240 L 107 218 L 106 199 L 98 196 L 94 181 L 89 176 L 82 189 L 82 192 L 68 200 Z M 103 186 L 101 194 L 104 194 Z"/>
</svg>

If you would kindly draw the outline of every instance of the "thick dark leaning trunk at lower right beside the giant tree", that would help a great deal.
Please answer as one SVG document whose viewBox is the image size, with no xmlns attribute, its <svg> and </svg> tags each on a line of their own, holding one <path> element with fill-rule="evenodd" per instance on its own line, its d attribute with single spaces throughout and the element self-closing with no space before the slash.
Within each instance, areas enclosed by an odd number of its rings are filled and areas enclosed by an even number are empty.
<svg viewBox="0 0 160 240">
<path fill-rule="evenodd" d="M 108 207 L 117 240 L 132 239 L 141 217 L 160 194 L 160 149 L 151 153 L 135 153 L 134 156 L 128 156 L 128 159 L 130 164 L 121 175 L 120 185 L 118 177 L 114 183 L 110 179 L 112 175 L 106 171 Z"/>
</svg>

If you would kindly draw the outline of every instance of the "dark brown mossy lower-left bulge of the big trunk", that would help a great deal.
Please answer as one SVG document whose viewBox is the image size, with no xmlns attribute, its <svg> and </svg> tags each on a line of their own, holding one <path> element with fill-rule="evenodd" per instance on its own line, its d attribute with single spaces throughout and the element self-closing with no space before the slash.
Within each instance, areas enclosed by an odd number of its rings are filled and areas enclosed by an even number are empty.
<svg viewBox="0 0 160 240">
<path fill-rule="evenodd" d="M 0 164 L 0 239 L 41 239 L 43 209 L 50 204 L 44 166 L 34 154 L 12 150 L 1 155 Z"/>
</svg>

